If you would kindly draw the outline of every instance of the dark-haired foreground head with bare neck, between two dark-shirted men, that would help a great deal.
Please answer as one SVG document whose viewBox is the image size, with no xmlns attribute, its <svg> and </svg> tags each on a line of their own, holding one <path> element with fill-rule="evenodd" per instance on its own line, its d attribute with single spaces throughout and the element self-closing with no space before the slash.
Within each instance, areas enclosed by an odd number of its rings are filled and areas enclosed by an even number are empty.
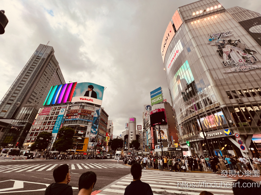
<svg viewBox="0 0 261 195">
<path fill-rule="evenodd" d="M 78 195 L 90 195 L 94 189 L 97 181 L 96 174 L 93 171 L 88 171 L 80 176 L 78 188 Z"/>
</svg>

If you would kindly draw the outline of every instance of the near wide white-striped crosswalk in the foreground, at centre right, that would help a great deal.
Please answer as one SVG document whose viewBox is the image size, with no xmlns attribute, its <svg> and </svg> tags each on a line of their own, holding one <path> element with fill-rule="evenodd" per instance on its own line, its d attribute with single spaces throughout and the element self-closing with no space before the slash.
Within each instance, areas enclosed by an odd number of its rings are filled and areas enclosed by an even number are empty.
<svg viewBox="0 0 261 195">
<path fill-rule="evenodd" d="M 119 193 L 124 194 L 126 186 L 129 185 L 131 181 L 133 181 L 132 175 L 126 175 L 125 177 L 122 177 L 121 179 L 99 190 L 97 195 L 118 195 Z M 227 183 L 230 184 L 235 180 L 231 178 L 224 178 L 221 175 L 211 173 L 176 173 L 167 171 L 142 170 L 141 181 L 150 185 L 154 195 L 198 195 L 201 191 L 208 191 L 214 195 L 233 195 L 232 188 L 224 187 L 224 185 Z"/>
</svg>

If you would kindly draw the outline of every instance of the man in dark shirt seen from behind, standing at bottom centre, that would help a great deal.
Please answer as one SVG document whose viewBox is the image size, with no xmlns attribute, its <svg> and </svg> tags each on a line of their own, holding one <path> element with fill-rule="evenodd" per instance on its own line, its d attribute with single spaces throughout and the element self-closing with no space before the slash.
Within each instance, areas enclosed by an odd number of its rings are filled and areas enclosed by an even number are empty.
<svg viewBox="0 0 261 195">
<path fill-rule="evenodd" d="M 133 181 L 125 188 L 124 195 L 153 195 L 149 184 L 140 180 L 142 167 L 139 163 L 133 163 L 131 166 L 131 175 Z"/>
</svg>

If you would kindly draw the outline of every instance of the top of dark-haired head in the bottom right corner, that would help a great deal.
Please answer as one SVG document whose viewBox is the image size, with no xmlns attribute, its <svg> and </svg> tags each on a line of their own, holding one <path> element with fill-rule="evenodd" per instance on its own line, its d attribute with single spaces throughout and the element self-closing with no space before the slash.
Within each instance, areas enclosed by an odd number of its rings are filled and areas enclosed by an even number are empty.
<svg viewBox="0 0 261 195">
<path fill-rule="evenodd" d="M 253 180 L 238 179 L 234 181 L 232 190 L 234 195 L 260 194 L 261 188 L 259 187 L 259 183 Z"/>
</svg>

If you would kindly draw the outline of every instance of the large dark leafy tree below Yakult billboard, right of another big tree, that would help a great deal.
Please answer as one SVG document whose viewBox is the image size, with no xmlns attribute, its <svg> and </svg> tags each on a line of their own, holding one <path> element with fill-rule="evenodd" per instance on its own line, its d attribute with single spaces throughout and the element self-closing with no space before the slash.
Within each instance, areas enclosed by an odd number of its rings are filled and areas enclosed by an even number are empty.
<svg viewBox="0 0 261 195">
<path fill-rule="evenodd" d="M 70 127 L 60 128 L 57 134 L 58 139 L 53 143 L 53 150 L 61 152 L 71 149 L 74 133 L 74 129 Z"/>
</svg>

